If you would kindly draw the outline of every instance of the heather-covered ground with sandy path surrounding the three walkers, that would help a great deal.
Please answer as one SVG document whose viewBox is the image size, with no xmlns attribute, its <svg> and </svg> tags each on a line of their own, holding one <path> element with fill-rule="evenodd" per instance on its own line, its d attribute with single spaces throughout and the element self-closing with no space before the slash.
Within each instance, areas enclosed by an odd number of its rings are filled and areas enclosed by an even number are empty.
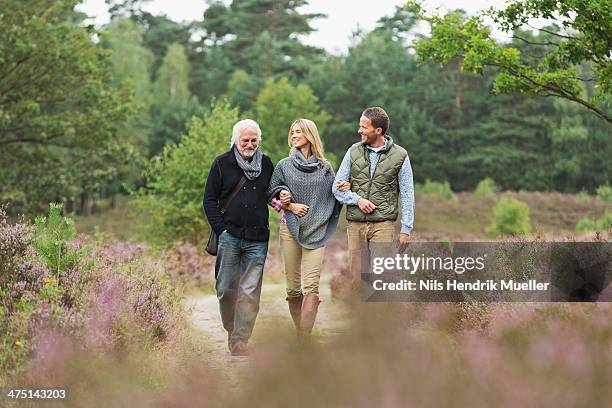
<svg viewBox="0 0 612 408">
<path fill-rule="evenodd" d="M 524 240 L 611 239 L 575 231 L 605 213 L 600 198 L 545 193 L 419 193 L 415 239 L 497 239 L 479 214 L 505 196 L 533 209 Z M 59 214 L 38 226 L 0 217 L 2 386 L 66 388 L 78 407 L 612 404 L 608 303 L 350 301 L 343 226 L 327 248 L 315 345 L 296 348 L 273 237 L 254 355 L 231 357 L 214 259 L 139 242 L 129 207 L 77 218 L 75 236 Z"/>
</svg>

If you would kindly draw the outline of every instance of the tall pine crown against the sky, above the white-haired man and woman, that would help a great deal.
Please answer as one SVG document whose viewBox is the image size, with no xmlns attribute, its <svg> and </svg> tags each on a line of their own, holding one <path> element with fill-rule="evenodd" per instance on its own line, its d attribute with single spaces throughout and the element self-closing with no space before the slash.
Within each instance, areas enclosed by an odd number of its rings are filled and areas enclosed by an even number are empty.
<svg viewBox="0 0 612 408">
<path fill-rule="evenodd" d="M 213 2 L 199 28 L 205 31 L 194 44 L 192 89 L 203 100 L 227 91 L 233 71 L 253 78 L 303 79 L 323 50 L 303 44 L 298 36 L 314 29 L 321 14 L 302 14 L 305 0 L 234 0 L 229 6 Z M 255 81 L 261 87 L 263 81 Z M 249 87 L 252 88 L 252 87 Z"/>
</svg>

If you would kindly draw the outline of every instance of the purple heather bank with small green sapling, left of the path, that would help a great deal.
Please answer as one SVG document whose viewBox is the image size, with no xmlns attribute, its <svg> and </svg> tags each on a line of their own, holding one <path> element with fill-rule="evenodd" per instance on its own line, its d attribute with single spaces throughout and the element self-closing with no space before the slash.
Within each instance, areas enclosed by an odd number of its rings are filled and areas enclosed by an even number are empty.
<svg viewBox="0 0 612 408">
<path fill-rule="evenodd" d="M 74 238 L 57 215 L 35 228 L 0 209 L 0 373 L 28 361 L 52 370 L 67 344 L 111 353 L 180 341 L 183 308 L 164 262 L 140 244 Z"/>
</svg>

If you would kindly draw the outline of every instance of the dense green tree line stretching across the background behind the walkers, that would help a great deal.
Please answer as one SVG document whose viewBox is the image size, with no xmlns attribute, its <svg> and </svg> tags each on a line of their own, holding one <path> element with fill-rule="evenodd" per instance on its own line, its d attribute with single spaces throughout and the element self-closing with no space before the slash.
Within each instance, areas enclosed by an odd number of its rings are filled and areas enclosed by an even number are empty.
<svg viewBox="0 0 612 408">
<path fill-rule="evenodd" d="M 189 23 L 144 11 L 146 0 L 107 0 L 112 19 L 99 30 L 78 3 L 3 2 L 0 202 L 11 213 L 62 201 L 86 214 L 99 198 L 149 188 L 164 150 L 212 126 L 192 118 L 215 117 L 219 104 L 260 123 L 274 161 L 287 154 L 291 121 L 307 117 L 335 164 L 357 140 L 360 112 L 378 105 L 419 183 L 461 191 L 489 177 L 502 189 L 593 192 L 610 181 L 605 2 L 576 3 L 567 13 L 579 24 L 534 31 L 517 22 L 550 14 L 550 2 L 514 1 L 495 20 L 512 34 L 503 44 L 475 17 L 431 17 L 411 4 L 347 33 L 341 55 L 303 42 L 326 18 L 302 12 L 305 0 L 212 2 Z M 421 21 L 431 34 L 418 34 Z M 211 132 L 229 141 L 230 128 Z M 199 140 L 217 151 L 219 137 Z"/>
</svg>

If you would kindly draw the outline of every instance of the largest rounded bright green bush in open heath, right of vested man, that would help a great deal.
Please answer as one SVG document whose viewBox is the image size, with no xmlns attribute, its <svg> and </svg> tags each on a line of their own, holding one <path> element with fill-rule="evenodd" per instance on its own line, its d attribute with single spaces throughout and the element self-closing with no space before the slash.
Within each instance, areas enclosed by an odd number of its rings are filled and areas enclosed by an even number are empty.
<svg viewBox="0 0 612 408">
<path fill-rule="evenodd" d="M 493 207 L 493 219 L 487 232 L 496 236 L 530 233 L 529 206 L 513 198 L 499 200 Z"/>
</svg>

